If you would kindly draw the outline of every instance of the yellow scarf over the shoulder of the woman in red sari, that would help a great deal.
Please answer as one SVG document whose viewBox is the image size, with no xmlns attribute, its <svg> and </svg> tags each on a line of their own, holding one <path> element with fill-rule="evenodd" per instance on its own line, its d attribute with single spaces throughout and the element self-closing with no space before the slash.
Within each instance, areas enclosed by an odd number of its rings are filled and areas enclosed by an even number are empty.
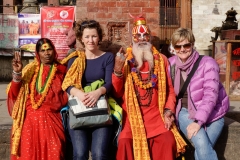
<svg viewBox="0 0 240 160">
<path fill-rule="evenodd" d="M 25 115 L 25 106 L 27 96 L 29 94 L 30 81 L 34 75 L 35 69 L 38 66 L 38 62 L 35 59 L 24 67 L 22 71 L 22 86 L 17 96 L 16 102 L 13 105 L 12 110 L 12 136 L 11 136 L 11 154 L 19 156 L 19 144 L 22 132 L 22 126 Z M 11 83 L 7 86 L 7 94 L 10 89 Z"/>
</svg>

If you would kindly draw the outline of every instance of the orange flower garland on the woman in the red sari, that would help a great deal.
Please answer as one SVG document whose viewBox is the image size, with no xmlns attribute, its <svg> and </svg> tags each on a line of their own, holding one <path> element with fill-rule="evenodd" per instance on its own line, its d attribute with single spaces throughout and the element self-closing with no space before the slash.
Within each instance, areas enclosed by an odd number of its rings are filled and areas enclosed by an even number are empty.
<svg viewBox="0 0 240 160">
<path fill-rule="evenodd" d="M 38 107 L 44 101 L 49 91 L 49 88 L 52 84 L 52 80 L 55 76 L 56 71 L 57 71 L 57 65 L 54 63 L 53 65 L 51 65 L 45 84 L 42 86 L 43 64 L 41 64 L 40 67 L 38 66 L 36 68 L 35 74 L 33 76 L 33 80 L 30 86 L 30 99 L 31 99 L 33 109 L 38 109 Z M 37 92 L 42 95 L 37 102 L 35 101 L 35 98 L 34 98 L 35 86 L 36 86 Z"/>
</svg>

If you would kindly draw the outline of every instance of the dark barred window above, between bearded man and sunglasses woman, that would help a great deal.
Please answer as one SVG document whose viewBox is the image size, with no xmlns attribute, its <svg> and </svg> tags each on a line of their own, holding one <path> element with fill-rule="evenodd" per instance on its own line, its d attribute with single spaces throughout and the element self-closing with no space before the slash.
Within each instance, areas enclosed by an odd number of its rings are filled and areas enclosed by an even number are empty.
<svg viewBox="0 0 240 160">
<path fill-rule="evenodd" d="M 179 0 L 160 0 L 160 26 L 180 26 Z"/>
</svg>

